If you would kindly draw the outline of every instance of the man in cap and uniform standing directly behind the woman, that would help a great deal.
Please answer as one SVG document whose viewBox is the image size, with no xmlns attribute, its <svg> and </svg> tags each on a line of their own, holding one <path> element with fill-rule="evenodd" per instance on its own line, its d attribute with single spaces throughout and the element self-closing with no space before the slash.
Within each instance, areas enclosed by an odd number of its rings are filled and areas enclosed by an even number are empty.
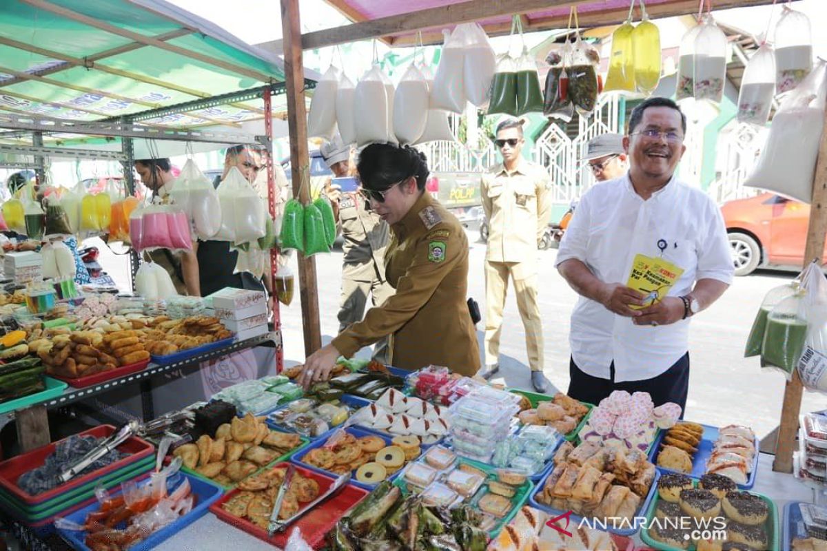
<svg viewBox="0 0 827 551">
<path fill-rule="evenodd" d="M 322 158 L 330 167 L 333 178 L 353 175 L 351 147 L 342 144 L 336 135 L 320 149 Z M 339 302 L 339 331 L 348 325 L 362 321 L 365 316 L 367 297 L 373 306 L 380 306 L 394 289 L 385 280 L 385 249 L 388 246 L 389 228 L 374 211 L 370 203 L 357 192 L 342 192 L 339 186 L 327 180 L 325 193 L 333 207 L 337 230 L 342 232 L 342 297 Z M 373 358 L 387 361 L 388 341 L 382 339 L 374 345 Z"/>
</svg>

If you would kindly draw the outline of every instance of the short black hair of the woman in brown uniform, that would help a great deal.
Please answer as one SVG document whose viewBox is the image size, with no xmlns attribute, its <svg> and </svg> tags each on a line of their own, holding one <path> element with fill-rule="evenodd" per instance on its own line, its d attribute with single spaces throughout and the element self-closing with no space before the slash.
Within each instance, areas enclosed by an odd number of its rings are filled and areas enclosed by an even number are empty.
<svg viewBox="0 0 827 551">
<path fill-rule="evenodd" d="M 370 144 L 359 154 L 356 164 L 361 185 L 375 191 L 390 189 L 395 183 L 414 176 L 419 191 L 428 181 L 428 158 L 408 145 Z"/>
</svg>

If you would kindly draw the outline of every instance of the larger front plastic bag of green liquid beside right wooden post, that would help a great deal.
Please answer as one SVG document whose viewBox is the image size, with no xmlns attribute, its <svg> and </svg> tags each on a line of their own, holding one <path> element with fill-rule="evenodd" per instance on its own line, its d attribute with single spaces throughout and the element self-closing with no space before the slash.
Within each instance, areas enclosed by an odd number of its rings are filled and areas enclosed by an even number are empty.
<svg viewBox="0 0 827 551">
<path fill-rule="evenodd" d="M 761 367 L 792 378 L 807 337 L 805 292 L 800 291 L 779 302 L 767 315 L 767 329 L 761 344 Z"/>
</svg>

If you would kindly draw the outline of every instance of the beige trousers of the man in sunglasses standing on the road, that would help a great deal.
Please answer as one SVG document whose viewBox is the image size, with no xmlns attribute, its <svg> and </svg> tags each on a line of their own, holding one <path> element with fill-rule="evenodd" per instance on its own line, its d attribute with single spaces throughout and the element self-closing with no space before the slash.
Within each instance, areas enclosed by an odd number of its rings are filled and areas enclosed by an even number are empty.
<svg viewBox="0 0 827 551">
<path fill-rule="evenodd" d="M 485 261 L 485 364 L 499 362 L 505 293 L 514 280 L 517 309 L 523 318 L 528 367 L 543 371 L 543 322 L 537 303 L 537 273 L 518 262 Z"/>
</svg>

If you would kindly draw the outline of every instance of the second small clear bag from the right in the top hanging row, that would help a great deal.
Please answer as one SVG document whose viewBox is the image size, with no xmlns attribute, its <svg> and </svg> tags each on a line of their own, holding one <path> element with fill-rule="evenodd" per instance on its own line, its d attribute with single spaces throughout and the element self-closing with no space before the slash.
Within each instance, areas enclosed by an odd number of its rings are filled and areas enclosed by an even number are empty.
<svg viewBox="0 0 827 551">
<path fill-rule="evenodd" d="M 767 124 L 775 95 L 775 74 L 775 52 L 771 45 L 762 44 L 743 71 L 736 115 L 739 122 Z"/>
</svg>

